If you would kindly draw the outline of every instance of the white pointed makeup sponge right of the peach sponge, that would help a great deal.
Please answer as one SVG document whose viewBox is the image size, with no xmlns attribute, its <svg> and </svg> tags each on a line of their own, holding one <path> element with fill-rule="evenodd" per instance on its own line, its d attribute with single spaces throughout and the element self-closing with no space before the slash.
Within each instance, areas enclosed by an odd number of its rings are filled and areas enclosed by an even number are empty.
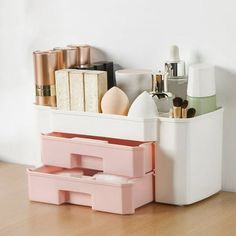
<svg viewBox="0 0 236 236">
<path fill-rule="evenodd" d="M 129 117 L 157 117 L 159 116 L 156 103 L 148 92 L 141 93 L 132 103 L 129 113 Z"/>
</svg>

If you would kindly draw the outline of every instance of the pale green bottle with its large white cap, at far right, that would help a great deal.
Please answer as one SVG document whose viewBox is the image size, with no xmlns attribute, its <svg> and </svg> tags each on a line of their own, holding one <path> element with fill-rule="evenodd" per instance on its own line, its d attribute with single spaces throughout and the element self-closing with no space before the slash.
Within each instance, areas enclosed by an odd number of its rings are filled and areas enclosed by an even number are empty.
<svg viewBox="0 0 236 236">
<path fill-rule="evenodd" d="M 188 107 L 196 109 L 196 115 L 216 110 L 216 86 L 214 67 L 194 64 L 189 67 L 187 88 Z"/>
</svg>

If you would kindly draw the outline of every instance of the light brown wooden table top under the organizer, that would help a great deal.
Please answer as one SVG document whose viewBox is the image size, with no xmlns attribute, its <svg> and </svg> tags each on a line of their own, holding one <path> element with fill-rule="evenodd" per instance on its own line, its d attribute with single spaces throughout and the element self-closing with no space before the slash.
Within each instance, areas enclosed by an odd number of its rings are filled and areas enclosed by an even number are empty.
<svg viewBox="0 0 236 236">
<path fill-rule="evenodd" d="M 236 193 L 221 192 L 183 207 L 151 203 L 122 216 L 30 202 L 25 169 L 0 162 L 1 236 L 236 235 Z"/>
</svg>

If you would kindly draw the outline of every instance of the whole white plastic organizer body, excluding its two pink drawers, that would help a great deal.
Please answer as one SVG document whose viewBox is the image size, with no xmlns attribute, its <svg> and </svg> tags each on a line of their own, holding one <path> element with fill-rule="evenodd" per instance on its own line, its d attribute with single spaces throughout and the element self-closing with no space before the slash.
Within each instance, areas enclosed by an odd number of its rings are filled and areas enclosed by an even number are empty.
<svg viewBox="0 0 236 236">
<path fill-rule="evenodd" d="M 156 202 L 187 205 L 221 190 L 222 108 L 191 119 L 36 110 L 41 133 L 156 142 Z"/>
</svg>

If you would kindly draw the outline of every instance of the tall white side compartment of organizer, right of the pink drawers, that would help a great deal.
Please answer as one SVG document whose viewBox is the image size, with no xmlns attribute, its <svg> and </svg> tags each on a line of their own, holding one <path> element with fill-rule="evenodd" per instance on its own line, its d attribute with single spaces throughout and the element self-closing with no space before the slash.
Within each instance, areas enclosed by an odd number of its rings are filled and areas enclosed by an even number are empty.
<svg viewBox="0 0 236 236">
<path fill-rule="evenodd" d="M 159 121 L 156 202 L 187 205 L 220 191 L 223 109 Z"/>
</svg>

